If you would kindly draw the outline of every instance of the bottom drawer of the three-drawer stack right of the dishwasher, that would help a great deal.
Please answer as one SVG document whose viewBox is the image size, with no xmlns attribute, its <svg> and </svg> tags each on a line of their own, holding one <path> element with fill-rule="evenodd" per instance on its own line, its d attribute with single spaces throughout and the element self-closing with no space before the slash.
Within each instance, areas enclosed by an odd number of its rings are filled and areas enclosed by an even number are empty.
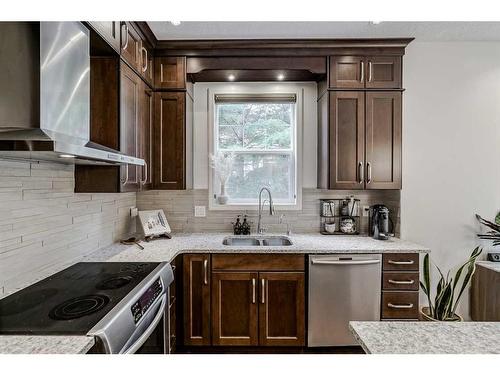
<svg viewBox="0 0 500 375">
<path fill-rule="evenodd" d="M 418 292 L 382 292 L 382 319 L 418 319 Z"/>
</svg>

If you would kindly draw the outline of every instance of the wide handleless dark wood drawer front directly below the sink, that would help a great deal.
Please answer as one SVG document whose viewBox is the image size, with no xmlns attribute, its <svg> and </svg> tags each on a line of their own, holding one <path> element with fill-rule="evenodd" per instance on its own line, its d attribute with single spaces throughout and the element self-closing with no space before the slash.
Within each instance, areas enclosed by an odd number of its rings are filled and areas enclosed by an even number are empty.
<svg viewBox="0 0 500 375">
<path fill-rule="evenodd" d="M 212 255 L 212 269 L 225 271 L 304 271 L 303 255 Z"/>
</svg>

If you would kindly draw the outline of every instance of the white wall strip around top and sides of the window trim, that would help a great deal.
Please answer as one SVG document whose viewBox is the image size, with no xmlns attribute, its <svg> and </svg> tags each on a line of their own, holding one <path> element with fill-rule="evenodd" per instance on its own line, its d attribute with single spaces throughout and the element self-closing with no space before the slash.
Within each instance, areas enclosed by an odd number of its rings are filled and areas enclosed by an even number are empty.
<svg viewBox="0 0 500 375">
<path fill-rule="evenodd" d="M 210 90 L 210 91 L 208 91 Z M 208 188 L 208 92 L 289 92 L 303 90 L 302 187 L 316 187 L 316 83 L 196 83 L 194 85 L 193 188 Z M 300 140 L 299 140 L 300 141 Z"/>
</svg>

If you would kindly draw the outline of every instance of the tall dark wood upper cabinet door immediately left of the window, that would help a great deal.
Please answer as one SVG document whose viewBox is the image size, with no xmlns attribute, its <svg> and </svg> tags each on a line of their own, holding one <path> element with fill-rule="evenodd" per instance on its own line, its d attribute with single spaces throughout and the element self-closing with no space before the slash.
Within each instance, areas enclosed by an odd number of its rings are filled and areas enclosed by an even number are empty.
<svg viewBox="0 0 500 375">
<path fill-rule="evenodd" d="M 155 189 L 186 188 L 185 95 L 182 92 L 155 93 Z"/>
</svg>

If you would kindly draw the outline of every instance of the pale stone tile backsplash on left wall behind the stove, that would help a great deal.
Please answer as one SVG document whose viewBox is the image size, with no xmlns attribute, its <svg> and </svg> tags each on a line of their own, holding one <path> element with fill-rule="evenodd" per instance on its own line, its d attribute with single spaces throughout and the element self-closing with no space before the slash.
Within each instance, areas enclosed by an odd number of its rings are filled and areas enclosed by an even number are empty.
<svg viewBox="0 0 500 375">
<path fill-rule="evenodd" d="M 0 297 L 135 232 L 135 193 L 73 191 L 72 165 L 0 159 Z"/>
</svg>

